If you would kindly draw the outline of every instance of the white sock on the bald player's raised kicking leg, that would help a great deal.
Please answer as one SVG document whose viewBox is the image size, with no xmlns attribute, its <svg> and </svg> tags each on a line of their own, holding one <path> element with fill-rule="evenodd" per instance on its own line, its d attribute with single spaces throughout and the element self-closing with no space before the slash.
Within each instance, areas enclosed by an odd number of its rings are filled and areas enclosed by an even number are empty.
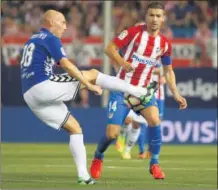
<svg viewBox="0 0 218 190">
<path fill-rule="evenodd" d="M 104 89 L 119 92 L 127 92 L 128 94 L 131 94 L 138 98 L 147 93 L 146 88 L 133 86 L 131 84 L 126 83 L 124 80 L 121 80 L 117 77 L 105 75 L 101 72 L 99 72 L 97 76 L 96 84 Z"/>
</svg>

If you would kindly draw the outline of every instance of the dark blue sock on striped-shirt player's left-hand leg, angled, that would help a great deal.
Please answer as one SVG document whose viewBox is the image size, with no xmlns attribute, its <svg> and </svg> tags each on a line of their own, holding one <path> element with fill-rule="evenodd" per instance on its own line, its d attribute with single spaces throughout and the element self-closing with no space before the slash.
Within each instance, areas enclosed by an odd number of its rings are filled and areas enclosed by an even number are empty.
<svg viewBox="0 0 218 190">
<path fill-rule="evenodd" d="M 100 142 L 98 143 L 97 149 L 95 151 L 94 157 L 97 159 L 102 160 L 104 158 L 104 152 L 107 150 L 109 145 L 114 141 L 115 139 L 108 139 L 106 135 L 104 135 Z"/>
</svg>

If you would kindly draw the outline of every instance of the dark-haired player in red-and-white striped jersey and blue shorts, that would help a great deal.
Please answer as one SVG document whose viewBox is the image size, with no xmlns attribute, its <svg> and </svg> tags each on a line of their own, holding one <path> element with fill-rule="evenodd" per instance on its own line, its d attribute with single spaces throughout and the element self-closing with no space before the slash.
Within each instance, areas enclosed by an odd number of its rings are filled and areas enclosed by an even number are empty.
<svg viewBox="0 0 218 190">
<path fill-rule="evenodd" d="M 185 109 L 187 103 L 176 87 L 175 74 L 171 63 L 171 43 L 160 34 L 160 28 L 165 20 L 164 5 L 151 2 L 146 12 L 146 25 L 133 26 L 121 32 L 105 49 L 105 53 L 120 68 L 117 77 L 135 86 L 148 86 L 152 79 L 157 61 L 161 59 L 164 66 L 164 76 L 173 97 L 180 109 Z M 120 56 L 118 50 L 122 50 Z M 161 148 L 160 118 L 153 97 L 139 113 L 148 122 L 148 144 L 152 157 L 149 171 L 154 179 L 164 179 L 165 174 L 159 166 Z M 122 93 L 111 93 L 108 104 L 108 122 L 106 134 L 100 139 L 92 160 L 90 171 L 93 178 L 101 177 L 104 152 L 119 136 L 120 127 L 130 109 L 124 104 Z"/>
</svg>

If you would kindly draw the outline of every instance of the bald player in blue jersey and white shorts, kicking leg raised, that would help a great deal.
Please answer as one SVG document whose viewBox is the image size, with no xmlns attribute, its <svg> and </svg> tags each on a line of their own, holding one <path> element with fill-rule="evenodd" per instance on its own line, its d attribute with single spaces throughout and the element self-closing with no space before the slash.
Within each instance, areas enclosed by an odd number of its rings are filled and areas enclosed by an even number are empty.
<svg viewBox="0 0 218 190">
<path fill-rule="evenodd" d="M 27 41 L 22 52 L 21 81 L 25 102 L 32 112 L 48 126 L 63 128 L 70 136 L 70 151 L 74 157 L 79 184 L 94 184 L 87 171 L 86 149 L 82 129 L 70 114 L 64 101 L 74 99 L 80 83 L 82 88 L 102 94 L 102 88 L 130 93 L 146 99 L 147 89 L 135 87 L 116 77 L 95 69 L 80 71 L 67 58 L 60 38 L 66 30 L 62 13 L 48 10 L 43 16 L 42 28 Z M 53 73 L 55 63 L 67 72 Z M 75 78 L 74 78 L 75 77 Z"/>
</svg>

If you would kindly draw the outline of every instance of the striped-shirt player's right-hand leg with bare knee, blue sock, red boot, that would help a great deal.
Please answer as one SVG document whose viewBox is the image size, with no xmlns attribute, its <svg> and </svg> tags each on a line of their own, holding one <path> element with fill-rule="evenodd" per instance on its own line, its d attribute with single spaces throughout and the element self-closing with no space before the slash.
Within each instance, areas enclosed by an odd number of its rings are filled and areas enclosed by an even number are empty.
<svg viewBox="0 0 218 190">
<path fill-rule="evenodd" d="M 159 154 L 161 148 L 161 128 L 158 108 L 150 106 L 142 111 L 148 122 L 148 146 L 151 151 L 149 171 L 154 179 L 164 179 L 165 174 L 159 166 Z"/>
</svg>

